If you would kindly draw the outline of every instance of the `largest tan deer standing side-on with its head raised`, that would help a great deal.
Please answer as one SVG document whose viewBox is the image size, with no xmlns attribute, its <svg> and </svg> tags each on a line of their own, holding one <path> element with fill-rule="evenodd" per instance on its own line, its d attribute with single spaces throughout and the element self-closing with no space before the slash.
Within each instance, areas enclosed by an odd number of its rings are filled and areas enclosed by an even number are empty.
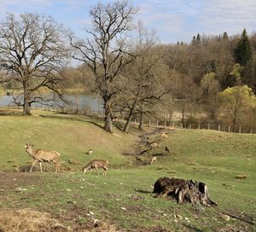
<svg viewBox="0 0 256 232">
<path fill-rule="evenodd" d="M 30 172 L 32 172 L 32 168 L 35 164 L 39 162 L 40 165 L 40 171 L 42 172 L 42 162 L 54 162 L 55 163 L 55 173 L 57 171 L 60 171 L 60 156 L 61 154 L 55 152 L 55 151 L 44 151 L 41 149 L 38 150 L 32 150 L 33 145 L 30 143 L 26 143 L 26 152 L 32 156 L 34 159 L 34 162 L 32 163 L 32 167 L 30 169 Z"/>
</svg>

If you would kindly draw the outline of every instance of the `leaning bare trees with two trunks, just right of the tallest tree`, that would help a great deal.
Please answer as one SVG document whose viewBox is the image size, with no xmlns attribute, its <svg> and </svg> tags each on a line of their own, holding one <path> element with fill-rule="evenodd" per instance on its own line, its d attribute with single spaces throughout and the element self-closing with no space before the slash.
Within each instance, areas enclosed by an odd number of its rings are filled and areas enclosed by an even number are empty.
<svg viewBox="0 0 256 232">
<path fill-rule="evenodd" d="M 154 32 L 148 32 L 141 21 L 138 22 L 136 43 L 137 58 L 126 68 L 128 81 L 123 95 L 123 108 L 127 112 L 125 132 L 129 131 L 132 117 L 139 115 L 139 129 L 143 129 L 143 116 L 152 113 L 153 105 L 165 94 L 161 78 L 165 75 L 161 64 L 161 49 L 157 47 Z"/>
</svg>

